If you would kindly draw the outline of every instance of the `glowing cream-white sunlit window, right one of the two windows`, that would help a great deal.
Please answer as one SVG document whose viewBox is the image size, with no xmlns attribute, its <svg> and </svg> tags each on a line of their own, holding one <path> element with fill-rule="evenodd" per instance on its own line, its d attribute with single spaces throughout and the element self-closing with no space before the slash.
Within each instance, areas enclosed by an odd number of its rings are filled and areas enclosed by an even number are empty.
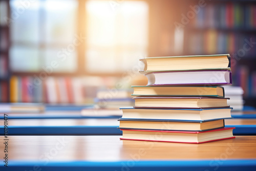
<svg viewBox="0 0 256 171">
<path fill-rule="evenodd" d="M 88 1 L 86 70 L 131 69 L 147 52 L 148 5 L 143 1 Z"/>
</svg>

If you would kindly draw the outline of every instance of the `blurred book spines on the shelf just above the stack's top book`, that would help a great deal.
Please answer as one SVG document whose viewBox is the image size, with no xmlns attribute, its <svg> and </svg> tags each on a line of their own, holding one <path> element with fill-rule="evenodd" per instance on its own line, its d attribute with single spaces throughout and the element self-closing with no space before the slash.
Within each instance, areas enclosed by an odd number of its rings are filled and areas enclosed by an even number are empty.
<svg viewBox="0 0 256 171">
<path fill-rule="evenodd" d="M 188 38 L 188 50 L 193 54 L 230 53 L 238 57 L 256 54 L 256 36 L 208 30 L 194 32 Z"/>
</svg>

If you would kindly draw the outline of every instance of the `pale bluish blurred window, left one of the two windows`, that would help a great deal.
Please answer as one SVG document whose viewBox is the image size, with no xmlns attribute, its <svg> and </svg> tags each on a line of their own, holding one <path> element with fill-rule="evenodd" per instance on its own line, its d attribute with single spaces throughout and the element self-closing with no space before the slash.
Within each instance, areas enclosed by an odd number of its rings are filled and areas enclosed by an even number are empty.
<svg viewBox="0 0 256 171">
<path fill-rule="evenodd" d="M 77 1 L 46 0 L 24 5 L 13 0 L 10 7 L 12 71 L 39 72 L 52 61 L 57 62 L 53 72 L 76 71 L 76 49 L 69 51 L 68 47 L 76 34 Z"/>
</svg>

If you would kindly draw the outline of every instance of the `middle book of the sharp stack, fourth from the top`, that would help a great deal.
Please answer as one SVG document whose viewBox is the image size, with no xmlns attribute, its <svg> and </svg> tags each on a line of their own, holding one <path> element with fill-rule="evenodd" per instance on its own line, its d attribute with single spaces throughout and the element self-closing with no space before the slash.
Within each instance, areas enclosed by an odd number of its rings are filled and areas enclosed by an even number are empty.
<svg viewBox="0 0 256 171">
<path fill-rule="evenodd" d="M 135 108 L 228 108 L 227 99 L 218 97 L 134 97 Z"/>
</svg>

